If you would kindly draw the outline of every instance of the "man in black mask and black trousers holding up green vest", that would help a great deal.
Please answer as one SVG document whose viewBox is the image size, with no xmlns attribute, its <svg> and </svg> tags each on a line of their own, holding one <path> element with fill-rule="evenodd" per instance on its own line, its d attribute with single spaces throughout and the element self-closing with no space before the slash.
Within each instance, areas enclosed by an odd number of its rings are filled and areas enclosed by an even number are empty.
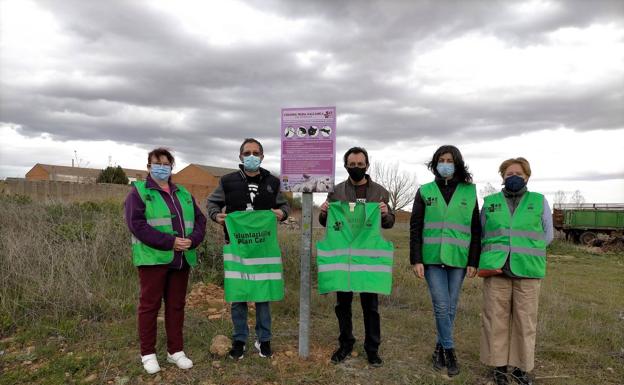
<svg viewBox="0 0 624 385">
<path fill-rule="evenodd" d="M 350 272 L 350 277 L 353 280 L 350 281 L 351 286 L 348 287 L 348 291 L 341 291 L 339 288 L 341 282 L 338 279 L 341 273 L 338 269 L 332 270 L 332 265 L 341 265 L 340 263 L 332 264 L 326 259 L 338 257 L 338 258 L 360 258 L 361 265 L 366 265 L 365 262 L 367 255 L 334 255 L 335 250 L 331 250 L 332 237 L 338 237 L 337 234 L 330 233 L 334 231 L 334 227 L 347 226 L 340 220 L 335 223 L 327 223 L 328 211 L 331 210 L 337 215 L 342 215 L 345 221 L 349 218 L 363 218 L 364 223 L 357 225 L 351 224 L 350 229 L 360 227 L 366 228 L 367 223 L 374 226 L 374 229 L 378 229 L 379 223 L 381 227 L 389 229 L 394 225 L 394 213 L 387 205 L 389 194 L 388 191 L 381 185 L 373 182 L 369 175 L 366 174 L 366 170 L 369 167 L 368 153 L 361 147 L 350 148 L 343 157 L 344 167 L 347 169 L 349 178 L 336 185 L 334 191 L 329 193 L 327 201 L 321 205 L 321 213 L 319 214 L 319 222 L 323 226 L 329 226 L 327 229 L 328 235 L 325 241 L 319 242 L 319 250 L 317 252 L 317 259 L 319 262 L 319 279 L 324 282 L 319 282 L 319 289 L 322 292 L 336 291 L 337 304 L 335 307 L 336 317 L 338 318 L 338 327 L 340 334 L 338 337 L 339 347 L 332 354 L 331 360 L 333 363 L 339 363 L 344 361 L 353 350 L 355 344 L 355 338 L 353 337 L 353 324 L 351 321 L 351 303 L 353 301 L 353 292 L 360 292 L 360 301 L 362 304 L 362 313 L 364 316 L 364 350 L 366 351 L 369 364 L 372 366 L 381 366 L 382 360 L 379 357 L 378 350 L 381 342 L 381 322 L 378 311 L 378 297 L 377 293 L 384 294 L 389 293 L 389 285 L 392 282 L 392 244 L 384 241 L 381 238 L 379 230 L 371 231 L 370 235 L 373 235 L 372 242 L 362 243 L 362 247 L 370 248 L 374 250 L 375 257 L 378 257 L 374 266 L 360 266 L 366 267 L 365 271 Z M 331 203 L 330 202 L 340 202 Z M 371 202 L 378 202 L 371 205 Z M 359 204 L 358 204 L 359 203 Z M 365 203 L 365 204 L 364 204 Z M 353 212 L 351 212 L 353 207 Z M 356 215 L 356 210 L 362 210 L 363 215 Z M 332 215 L 333 217 L 334 215 Z M 372 223 L 375 221 L 375 223 Z M 353 237 L 353 240 L 365 240 L 366 237 Z M 335 245 L 333 245 L 335 248 Z M 343 253 L 344 254 L 344 253 Z M 359 253 L 365 254 L 365 253 Z M 320 258 L 320 259 L 319 259 Z M 370 258 L 369 258 L 370 259 Z M 327 263 L 325 263 L 327 262 Z M 323 270 L 326 270 L 325 272 Z M 328 278 L 323 278 L 323 274 L 328 274 Z M 361 277 L 358 277 L 361 275 Z M 331 279 L 332 276 L 337 279 Z M 371 289 L 370 284 L 366 283 L 366 278 L 370 277 L 374 284 Z M 364 285 L 366 286 L 359 286 Z"/>
</svg>

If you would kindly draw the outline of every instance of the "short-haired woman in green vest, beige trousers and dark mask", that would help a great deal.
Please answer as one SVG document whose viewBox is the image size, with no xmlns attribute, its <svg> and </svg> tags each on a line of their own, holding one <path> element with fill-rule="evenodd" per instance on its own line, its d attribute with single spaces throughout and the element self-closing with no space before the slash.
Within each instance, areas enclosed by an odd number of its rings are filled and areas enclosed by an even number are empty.
<svg viewBox="0 0 624 385">
<path fill-rule="evenodd" d="M 552 214 L 542 194 L 527 191 L 531 167 L 524 158 L 499 167 L 505 187 L 483 202 L 479 276 L 483 280 L 481 362 L 494 367 L 497 385 L 509 376 L 530 385 L 535 361 L 537 307 L 546 275 L 546 246 L 553 239 Z"/>
</svg>

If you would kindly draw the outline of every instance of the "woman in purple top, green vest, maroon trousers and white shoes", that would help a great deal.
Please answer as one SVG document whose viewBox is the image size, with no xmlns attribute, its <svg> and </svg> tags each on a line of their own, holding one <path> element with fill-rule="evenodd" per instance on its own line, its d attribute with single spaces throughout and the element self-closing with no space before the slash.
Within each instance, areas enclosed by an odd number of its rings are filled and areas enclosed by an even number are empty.
<svg viewBox="0 0 624 385">
<path fill-rule="evenodd" d="M 132 233 L 132 261 L 139 271 L 141 362 L 153 374 L 160 370 L 156 324 L 163 299 L 167 361 L 181 369 L 193 366 L 182 350 L 184 304 L 189 269 L 197 263 L 195 248 L 204 239 L 206 217 L 188 190 L 171 182 L 174 158 L 167 149 L 151 151 L 147 161 L 149 175 L 133 183 L 125 218 Z"/>
</svg>

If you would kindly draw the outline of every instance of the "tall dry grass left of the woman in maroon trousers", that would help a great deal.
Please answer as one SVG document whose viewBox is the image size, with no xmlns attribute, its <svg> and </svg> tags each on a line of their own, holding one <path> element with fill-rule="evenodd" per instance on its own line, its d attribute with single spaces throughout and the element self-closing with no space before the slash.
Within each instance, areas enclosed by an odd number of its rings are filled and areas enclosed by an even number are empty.
<svg viewBox="0 0 624 385">
<path fill-rule="evenodd" d="M 41 318 L 118 317 L 136 290 L 118 203 L 0 197 L 0 333 Z"/>
</svg>

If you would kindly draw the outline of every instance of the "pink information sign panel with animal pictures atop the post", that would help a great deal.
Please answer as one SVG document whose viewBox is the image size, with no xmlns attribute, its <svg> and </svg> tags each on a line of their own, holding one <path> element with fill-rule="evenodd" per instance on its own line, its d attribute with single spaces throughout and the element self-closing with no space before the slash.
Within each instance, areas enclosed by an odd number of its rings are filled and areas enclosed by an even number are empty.
<svg viewBox="0 0 624 385">
<path fill-rule="evenodd" d="M 280 135 L 282 191 L 333 191 L 336 107 L 283 108 Z"/>
</svg>

